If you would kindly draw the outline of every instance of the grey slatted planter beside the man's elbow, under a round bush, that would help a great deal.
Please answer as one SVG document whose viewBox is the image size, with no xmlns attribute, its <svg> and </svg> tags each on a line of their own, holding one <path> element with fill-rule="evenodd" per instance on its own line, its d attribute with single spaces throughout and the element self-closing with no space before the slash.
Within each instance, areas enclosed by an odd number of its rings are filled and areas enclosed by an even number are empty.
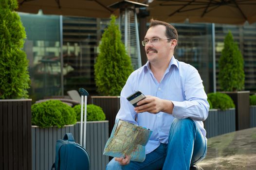
<svg viewBox="0 0 256 170">
<path fill-rule="evenodd" d="M 235 108 L 225 111 L 210 109 L 208 118 L 204 121 L 204 128 L 207 138 L 236 131 Z"/>
</svg>

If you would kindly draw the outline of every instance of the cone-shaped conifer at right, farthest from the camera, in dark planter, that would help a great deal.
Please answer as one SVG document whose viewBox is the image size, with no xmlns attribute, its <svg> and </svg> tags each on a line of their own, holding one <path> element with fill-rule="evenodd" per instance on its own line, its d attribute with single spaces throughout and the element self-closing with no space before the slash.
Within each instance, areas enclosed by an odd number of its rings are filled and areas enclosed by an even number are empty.
<svg viewBox="0 0 256 170">
<path fill-rule="evenodd" d="M 243 57 L 229 31 L 224 39 L 224 49 L 219 59 L 219 85 L 224 91 L 244 88 Z"/>
</svg>

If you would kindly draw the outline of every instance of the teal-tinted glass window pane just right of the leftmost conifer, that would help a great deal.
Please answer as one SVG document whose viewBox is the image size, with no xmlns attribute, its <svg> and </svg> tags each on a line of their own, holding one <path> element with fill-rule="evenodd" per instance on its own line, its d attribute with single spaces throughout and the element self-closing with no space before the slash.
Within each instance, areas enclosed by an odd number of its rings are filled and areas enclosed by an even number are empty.
<svg viewBox="0 0 256 170">
<path fill-rule="evenodd" d="M 19 13 L 27 39 L 24 51 L 29 60 L 33 101 L 61 95 L 59 16 Z"/>
</svg>

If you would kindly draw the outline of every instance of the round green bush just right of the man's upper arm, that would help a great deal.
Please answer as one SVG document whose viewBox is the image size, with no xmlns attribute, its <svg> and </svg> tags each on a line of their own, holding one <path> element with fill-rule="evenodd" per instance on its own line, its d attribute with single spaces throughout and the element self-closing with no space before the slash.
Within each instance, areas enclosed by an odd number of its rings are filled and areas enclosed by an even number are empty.
<svg viewBox="0 0 256 170">
<path fill-rule="evenodd" d="M 217 92 L 209 93 L 207 96 L 214 109 L 226 110 L 235 107 L 233 100 L 227 94 Z"/>
</svg>

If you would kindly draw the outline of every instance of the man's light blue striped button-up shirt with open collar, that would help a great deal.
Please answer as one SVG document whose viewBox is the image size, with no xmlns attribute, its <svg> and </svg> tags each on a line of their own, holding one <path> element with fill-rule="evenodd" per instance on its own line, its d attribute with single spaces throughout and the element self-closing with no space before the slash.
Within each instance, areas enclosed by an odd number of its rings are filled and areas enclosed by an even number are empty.
<svg viewBox="0 0 256 170">
<path fill-rule="evenodd" d="M 174 104 L 173 113 L 139 113 L 136 122 L 134 107 L 126 98 L 138 90 L 144 95 L 172 101 Z M 168 135 L 174 118 L 193 119 L 200 128 L 202 135 L 204 137 L 206 135 L 202 121 L 208 116 L 209 103 L 201 77 L 196 68 L 179 62 L 174 56 L 160 83 L 150 70 L 148 61 L 143 67 L 132 72 L 121 91 L 120 105 L 116 119 L 126 120 L 153 131 L 146 144 L 146 154 L 154 151 L 160 143 L 168 143 Z M 205 140 L 207 140 L 206 137 Z"/>
</svg>

